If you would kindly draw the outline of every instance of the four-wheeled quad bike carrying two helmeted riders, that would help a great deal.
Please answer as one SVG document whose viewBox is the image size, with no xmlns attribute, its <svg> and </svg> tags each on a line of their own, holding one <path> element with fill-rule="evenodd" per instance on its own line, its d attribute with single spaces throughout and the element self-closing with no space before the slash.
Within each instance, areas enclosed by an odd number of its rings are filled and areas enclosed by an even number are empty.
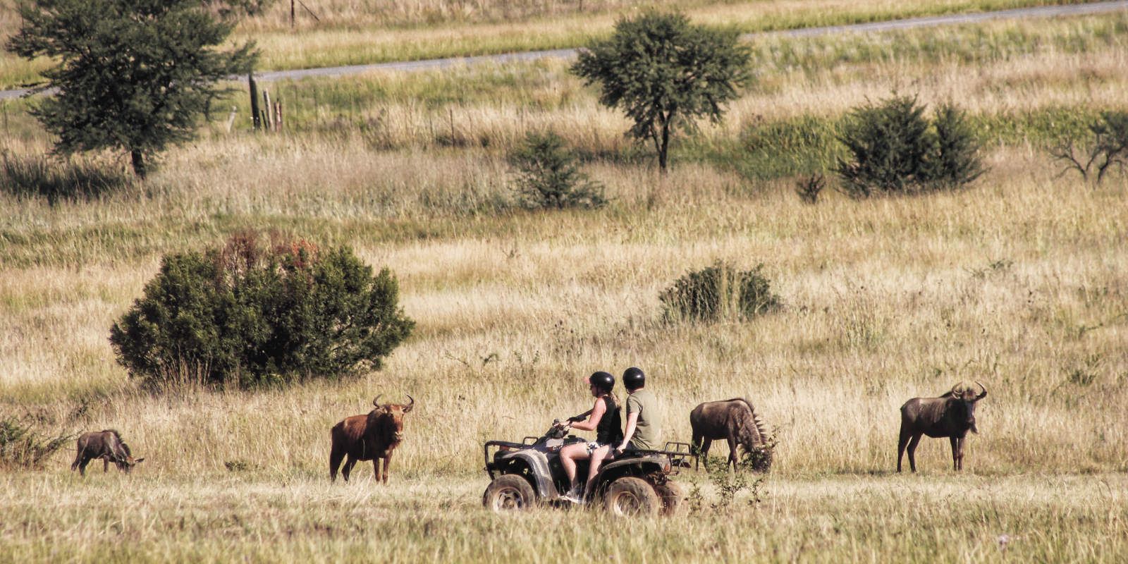
<svg viewBox="0 0 1128 564">
<path fill-rule="evenodd" d="M 558 423 L 558 420 L 557 420 Z M 569 479 L 559 451 L 583 439 L 554 424 L 544 437 L 526 437 L 522 442 L 487 441 L 483 448 L 485 470 L 493 481 L 482 503 L 495 512 L 525 510 L 537 503 L 566 505 L 561 494 Z M 667 442 L 666 450 L 628 450 L 603 461 L 584 501 L 601 501 L 616 515 L 672 514 L 685 492 L 670 481 L 679 468 L 688 468 L 689 444 Z M 588 460 L 576 460 L 576 475 L 588 475 Z"/>
</svg>

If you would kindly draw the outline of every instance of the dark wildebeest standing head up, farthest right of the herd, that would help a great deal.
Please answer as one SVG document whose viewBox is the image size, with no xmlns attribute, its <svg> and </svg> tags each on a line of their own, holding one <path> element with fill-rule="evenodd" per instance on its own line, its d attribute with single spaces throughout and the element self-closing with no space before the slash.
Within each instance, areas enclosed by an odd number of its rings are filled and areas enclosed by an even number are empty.
<svg viewBox="0 0 1128 564">
<path fill-rule="evenodd" d="M 897 441 L 897 472 L 901 472 L 901 456 L 905 446 L 909 450 L 909 468 L 916 472 L 916 447 L 920 435 L 933 439 L 948 437 L 952 442 L 952 469 L 963 469 L 963 437 L 976 429 L 976 402 L 987 396 L 987 388 L 979 385 L 982 394 L 964 382 L 952 386 L 952 390 L 940 397 L 915 397 L 901 406 L 901 437 Z"/>
</svg>

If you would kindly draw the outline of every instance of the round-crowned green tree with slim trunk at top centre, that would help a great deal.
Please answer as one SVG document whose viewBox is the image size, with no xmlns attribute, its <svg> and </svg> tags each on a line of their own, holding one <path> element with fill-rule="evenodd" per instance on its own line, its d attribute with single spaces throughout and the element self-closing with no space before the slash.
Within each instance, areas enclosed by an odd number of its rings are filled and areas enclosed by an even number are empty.
<svg viewBox="0 0 1128 564">
<path fill-rule="evenodd" d="M 627 135 L 651 140 L 666 173 L 670 133 L 716 123 L 749 78 L 750 51 L 735 30 L 694 26 L 681 14 L 647 12 L 615 24 L 615 34 L 580 52 L 572 72 L 601 82 L 600 104 L 622 107 L 634 126 Z"/>
</svg>

